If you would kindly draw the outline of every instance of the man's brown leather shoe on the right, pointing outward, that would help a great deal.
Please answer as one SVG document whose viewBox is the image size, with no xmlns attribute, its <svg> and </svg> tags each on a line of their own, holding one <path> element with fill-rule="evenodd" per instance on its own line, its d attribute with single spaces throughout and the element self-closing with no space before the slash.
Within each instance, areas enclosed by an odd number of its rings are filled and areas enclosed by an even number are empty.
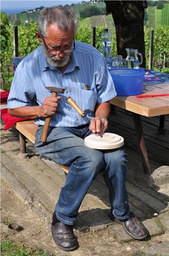
<svg viewBox="0 0 169 256">
<path fill-rule="evenodd" d="M 120 225 L 123 226 L 125 232 L 132 238 L 137 239 L 137 240 L 142 240 L 146 237 L 149 236 L 149 231 L 146 229 L 146 227 L 142 224 L 140 220 L 138 220 L 133 212 L 130 212 L 130 217 L 127 218 L 126 220 L 118 220 L 114 217 L 114 215 L 111 214 L 109 217 L 119 223 Z"/>
</svg>

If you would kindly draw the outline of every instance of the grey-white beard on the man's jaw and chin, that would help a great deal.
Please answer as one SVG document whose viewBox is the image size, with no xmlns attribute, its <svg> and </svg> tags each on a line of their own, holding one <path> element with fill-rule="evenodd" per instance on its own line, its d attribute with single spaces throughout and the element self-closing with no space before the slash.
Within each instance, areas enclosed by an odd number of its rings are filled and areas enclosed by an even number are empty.
<svg viewBox="0 0 169 256">
<path fill-rule="evenodd" d="M 59 56 L 53 56 L 51 57 L 51 55 L 49 54 L 49 52 L 46 50 L 46 47 L 44 44 L 42 44 L 42 49 L 44 52 L 44 55 L 47 59 L 47 62 L 51 65 L 51 67 L 53 68 L 59 68 L 59 67 L 64 67 L 69 59 L 70 59 L 70 55 L 65 55 L 65 57 L 59 57 Z"/>
</svg>

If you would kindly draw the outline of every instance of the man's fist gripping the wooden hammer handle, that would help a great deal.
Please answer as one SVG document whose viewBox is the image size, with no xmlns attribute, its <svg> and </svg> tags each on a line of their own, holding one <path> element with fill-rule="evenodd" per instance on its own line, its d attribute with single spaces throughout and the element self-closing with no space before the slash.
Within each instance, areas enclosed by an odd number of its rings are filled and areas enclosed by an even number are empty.
<svg viewBox="0 0 169 256">
<path fill-rule="evenodd" d="M 61 96 L 57 97 L 46 97 L 42 106 L 40 107 L 40 116 L 46 118 L 56 113 L 58 103 L 61 100 Z"/>
</svg>

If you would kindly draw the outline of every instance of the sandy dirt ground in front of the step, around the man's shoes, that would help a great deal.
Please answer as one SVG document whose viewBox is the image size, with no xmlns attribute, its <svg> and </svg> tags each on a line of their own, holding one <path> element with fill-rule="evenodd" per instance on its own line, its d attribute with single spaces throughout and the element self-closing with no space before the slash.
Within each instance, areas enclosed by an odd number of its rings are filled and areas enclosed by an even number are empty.
<svg viewBox="0 0 169 256">
<path fill-rule="evenodd" d="M 8 223 L 16 222 L 23 230 L 18 232 L 8 228 Z M 30 247 L 46 250 L 50 255 L 56 256 L 130 256 L 132 253 L 155 243 L 162 243 L 169 239 L 168 233 L 154 237 L 148 241 L 132 241 L 119 243 L 113 237 L 111 227 L 97 233 L 86 233 L 79 237 L 80 248 L 74 252 L 64 252 L 58 249 L 53 242 L 51 232 L 47 228 L 49 223 L 42 220 L 25 205 L 22 198 L 15 193 L 4 179 L 1 181 L 1 238 L 18 241 Z M 134 254 L 133 254 L 134 255 Z M 140 254 L 137 254 L 140 255 Z M 147 254 L 148 255 L 148 254 Z"/>
</svg>

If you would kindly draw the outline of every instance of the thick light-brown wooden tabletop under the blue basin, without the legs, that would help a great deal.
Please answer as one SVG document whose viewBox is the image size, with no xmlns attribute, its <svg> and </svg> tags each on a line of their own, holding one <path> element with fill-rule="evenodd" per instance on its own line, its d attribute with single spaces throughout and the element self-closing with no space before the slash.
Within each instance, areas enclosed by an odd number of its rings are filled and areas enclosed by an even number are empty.
<svg viewBox="0 0 169 256">
<path fill-rule="evenodd" d="M 163 84 L 162 84 L 163 85 Z M 154 86 L 147 86 L 147 91 L 143 94 L 163 94 L 167 93 L 169 83 L 165 83 L 163 88 Z M 119 108 L 129 110 L 131 112 L 144 115 L 144 116 L 156 116 L 169 114 L 169 97 L 150 97 L 137 99 L 135 95 L 132 96 L 116 96 L 110 103 L 118 106 Z"/>
</svg>

